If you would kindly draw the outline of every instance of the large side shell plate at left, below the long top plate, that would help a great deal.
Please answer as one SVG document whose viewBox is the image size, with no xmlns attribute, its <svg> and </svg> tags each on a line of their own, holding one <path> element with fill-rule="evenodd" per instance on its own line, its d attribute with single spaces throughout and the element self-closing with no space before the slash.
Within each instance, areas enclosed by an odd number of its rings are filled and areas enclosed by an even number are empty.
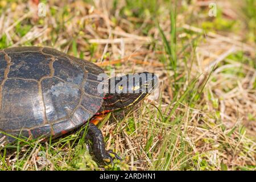
<svg viewBox="0 0 256 182">
<path fill-rule="evenodd" d="M 43 124 L 44 107 L 36 81 L 9 79 L 3 85 L 0 129 L 17 130 Z"/>
</svg>

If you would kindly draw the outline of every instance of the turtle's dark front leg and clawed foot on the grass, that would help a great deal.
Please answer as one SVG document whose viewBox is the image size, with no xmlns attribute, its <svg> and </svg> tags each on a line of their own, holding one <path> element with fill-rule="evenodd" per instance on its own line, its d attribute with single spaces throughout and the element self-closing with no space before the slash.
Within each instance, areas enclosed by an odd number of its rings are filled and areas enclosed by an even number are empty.
<svg viewBox="0 0 256 182">
<path fill-rule="evenodd" d="M 112 150 L 105 150 L 104 137 L 101 130 L 98 129 L 93 123 L 86 123 L 87 134 L 86 138 L 90 139 L 92 142 L 92 151 L 98 162 L 113 162 L 114 158 L 121 160 L 121 158 L 115 154 Z"/>
</svg>

